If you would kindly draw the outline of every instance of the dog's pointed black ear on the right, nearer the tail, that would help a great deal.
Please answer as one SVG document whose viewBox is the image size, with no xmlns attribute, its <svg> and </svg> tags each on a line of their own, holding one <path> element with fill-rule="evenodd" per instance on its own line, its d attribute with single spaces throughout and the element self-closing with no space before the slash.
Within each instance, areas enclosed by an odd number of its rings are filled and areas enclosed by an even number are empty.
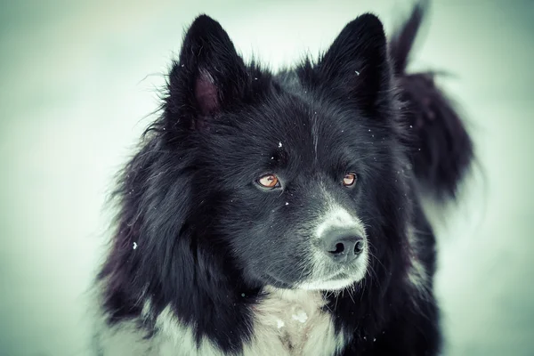
<svg viewBox="0 0 534 356">
<path fill-rule="evenodd" d="M 320 81 L 363 109 L 380 104 L 390 87 L 391 70 L 382 22 L 364 14 L 349 22 L 320 59 Z"/>
</svg>

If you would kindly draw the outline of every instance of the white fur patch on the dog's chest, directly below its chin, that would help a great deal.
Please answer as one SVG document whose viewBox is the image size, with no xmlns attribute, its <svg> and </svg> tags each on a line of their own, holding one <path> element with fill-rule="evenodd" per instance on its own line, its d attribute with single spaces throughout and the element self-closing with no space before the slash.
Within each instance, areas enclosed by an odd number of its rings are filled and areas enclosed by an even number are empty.
<svg viewBox="0 0 534 356">
<path fill-rule="evenodd" d="M 319 293 L 270 289 L 255 306 L 248 355 L 332 355 L 344 345 Z"/>
</svg>

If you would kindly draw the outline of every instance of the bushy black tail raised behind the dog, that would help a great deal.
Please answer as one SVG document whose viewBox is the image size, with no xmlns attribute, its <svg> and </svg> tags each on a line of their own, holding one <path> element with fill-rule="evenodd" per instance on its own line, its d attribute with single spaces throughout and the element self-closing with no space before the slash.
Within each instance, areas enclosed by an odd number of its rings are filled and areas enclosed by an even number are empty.
<svg viewBox="0 0 534 356">
<path fill-rule="evenodd" d="M 410 160 L 417 179 L 438 198 L 455 197 L 458 182 L 473 160 L 473 142 L 457 111 L 434 84 L 438 74 L 406 72 L 426 5 L 426 1 L 417 4 L 409 19 L 391 37 L 389 50 L 406 119 L 412 127 Z"/>
</svg>

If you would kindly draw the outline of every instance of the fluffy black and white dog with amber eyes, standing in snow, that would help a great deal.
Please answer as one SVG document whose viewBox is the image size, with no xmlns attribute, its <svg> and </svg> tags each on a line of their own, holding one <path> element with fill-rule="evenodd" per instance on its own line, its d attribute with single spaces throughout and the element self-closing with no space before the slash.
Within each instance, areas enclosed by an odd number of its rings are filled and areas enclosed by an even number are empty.
<svg viewBox="0 0 534 356">
<path fill-rule="evenodd" d="M 406 70 L 425 6 L 277 72 L 192 22 L 113 194 L 97 354 L 441 352 L 422 198 L 456 198 L 473 142 L 435 73 Z"/>
</svg>

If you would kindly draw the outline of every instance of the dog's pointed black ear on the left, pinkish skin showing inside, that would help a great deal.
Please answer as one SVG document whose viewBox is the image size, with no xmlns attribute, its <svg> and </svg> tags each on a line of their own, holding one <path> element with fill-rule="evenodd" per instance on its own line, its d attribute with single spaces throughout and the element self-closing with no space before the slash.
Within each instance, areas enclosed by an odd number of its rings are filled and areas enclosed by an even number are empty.
<svg viewBox="0 0 534 356">
<path fill-rule="evenodd" d="M 247 83 L 245 64 L 226 31 L 212 18 L 198 16 L 169 75 L 168 123 L 202 129 L 219 112 L 239 102 Z"/>
</svg>

